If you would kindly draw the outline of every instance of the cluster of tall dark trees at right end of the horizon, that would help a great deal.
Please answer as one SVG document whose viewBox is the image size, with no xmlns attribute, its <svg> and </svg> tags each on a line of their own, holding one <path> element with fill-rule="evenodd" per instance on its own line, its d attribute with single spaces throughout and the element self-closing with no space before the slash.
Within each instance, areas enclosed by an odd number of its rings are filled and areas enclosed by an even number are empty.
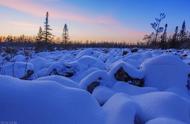
<svg viewBox="0 0 190 124">
<path fill-rule="evenodd" d="M 168 24 L 161 26 L 161 22 L 165 18 L 166 15 L 161 13 L 158 18 L 155 18 L 155 22 L 151 23 L 154 31 L 149 35 L 145 35 L 146 46 L 162 49 L 190 48 L 190 32 L 187 30 L 186 22 L 183 21 L 181 27 L 176 26 L 174 33 L 169 35 L 167 32 Z"/>
</svg>

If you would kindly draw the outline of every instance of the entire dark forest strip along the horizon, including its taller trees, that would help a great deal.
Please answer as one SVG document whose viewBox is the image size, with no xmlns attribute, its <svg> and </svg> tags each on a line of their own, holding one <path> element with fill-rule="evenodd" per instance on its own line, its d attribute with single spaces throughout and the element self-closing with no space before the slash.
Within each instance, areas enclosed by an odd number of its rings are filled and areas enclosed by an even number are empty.
<svg viewBox="0 0 190 124">
<path fill-rule="evenodd" d="M 49 13 L 46 13 L 44 27 L 39 27 L 36 36 L 0 36 L 0 47 L 30 47 L 36 51 L 55 50 L 55 49 L 74 49 L 74 48 L 161 48 L 161 49 L 183 49 L 190 48 L 190 32 L 186 28 L 186 22 L 176 26 L 174 33 L 168 33 L 168 24 L 162 26 L 162 21 L 166 18 L 161 13 L 155 21 L 151 23 L 153 32 L 147 34 L 142 42 L 128 43 L 117 41 L 72 41 L 69 36 L 68 25 L 63 27 L 62 38 L 56 38 L 52 33 L 49 25 Z"/>
</svg>

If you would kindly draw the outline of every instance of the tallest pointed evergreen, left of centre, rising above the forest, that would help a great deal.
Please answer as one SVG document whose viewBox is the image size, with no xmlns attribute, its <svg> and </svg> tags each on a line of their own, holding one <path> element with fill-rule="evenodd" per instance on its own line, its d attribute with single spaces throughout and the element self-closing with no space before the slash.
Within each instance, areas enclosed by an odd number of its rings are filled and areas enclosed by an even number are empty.
<svg viewBox="0 0 190 124">
<path fill-rule="evenodd" d="M 47 12 L 45 22 L 44 22 L 44 32 L 43 32 L 45 42 L 51 42 L 52 41 L 53 35 L 51 33 L 51 30 L 52 29 L 50 28 L 50 25 L 49 25 L 49 13 Z"/>
</svg>

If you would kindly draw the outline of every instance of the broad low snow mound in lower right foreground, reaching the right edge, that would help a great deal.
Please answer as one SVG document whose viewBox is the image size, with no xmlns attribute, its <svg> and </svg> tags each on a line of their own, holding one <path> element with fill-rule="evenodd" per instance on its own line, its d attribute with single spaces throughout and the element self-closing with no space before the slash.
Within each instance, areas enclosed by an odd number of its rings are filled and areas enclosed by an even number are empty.
<svg viewBox="0 0 190 124">
<path fill-rule="evenodd" d="M 139 105 L 138 116 L 143 122 L 166 117 L 190 123 L 190 104 L 171 92 L 152 92 L 133 97 Z"/>
</svg>

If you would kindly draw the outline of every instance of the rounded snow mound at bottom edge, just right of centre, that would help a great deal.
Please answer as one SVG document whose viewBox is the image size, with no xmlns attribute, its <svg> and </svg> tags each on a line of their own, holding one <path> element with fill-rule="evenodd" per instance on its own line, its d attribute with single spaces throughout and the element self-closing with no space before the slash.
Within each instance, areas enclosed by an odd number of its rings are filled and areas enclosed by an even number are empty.
<svg viewBox="0 0 190 124">
<path fill-rule="evenodd" d="M 125 94 L 115 94 L 103 106 L 106 124 L 134 124 L 136 104 Z"/>
</svg>

